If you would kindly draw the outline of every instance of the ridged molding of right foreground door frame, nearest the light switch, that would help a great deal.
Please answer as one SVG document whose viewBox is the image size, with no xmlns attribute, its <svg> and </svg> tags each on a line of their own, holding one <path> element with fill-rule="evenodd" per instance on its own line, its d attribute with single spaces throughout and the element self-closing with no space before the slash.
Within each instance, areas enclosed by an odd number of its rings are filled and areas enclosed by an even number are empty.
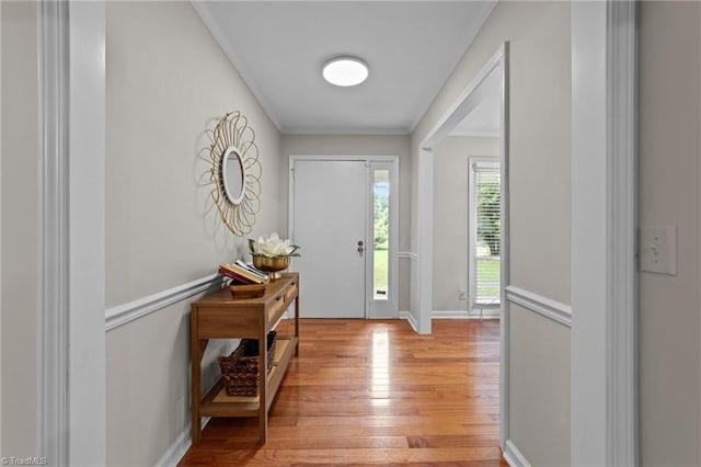
<svg viewBox="0 0 701 467">
<path fill-rule="evenodd" d="M 612 115 L 609 157 L 612 194 L 608 247 L 609 324 L 607 334 L 611 428 L 608 463 L 637 465 L 637 3 L 609 2 L 609 115 Z M 616 25 L 616 30 L 611 30 Z"/>
</svg>

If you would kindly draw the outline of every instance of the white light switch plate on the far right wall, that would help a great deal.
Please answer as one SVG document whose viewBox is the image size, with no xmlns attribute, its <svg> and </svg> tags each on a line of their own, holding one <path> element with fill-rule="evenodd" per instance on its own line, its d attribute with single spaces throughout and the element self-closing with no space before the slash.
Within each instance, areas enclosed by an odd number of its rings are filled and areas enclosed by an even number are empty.
<svg viewBox="0 0 701 467">
<path fill-rule="evenodd" d="M 677 227 L 640 228 L 640 270 L 677 275 Z"/>
</svg>

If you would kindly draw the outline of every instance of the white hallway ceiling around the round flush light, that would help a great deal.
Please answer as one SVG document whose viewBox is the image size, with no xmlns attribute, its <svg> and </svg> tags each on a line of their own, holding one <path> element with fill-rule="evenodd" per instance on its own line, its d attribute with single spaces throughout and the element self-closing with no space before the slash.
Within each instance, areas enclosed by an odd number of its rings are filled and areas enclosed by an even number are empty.
<svg viewBox="0 0 701 467">
<path fill-rule="evenodd" d="M 495 3 L 193 2 L 284 134 L 411 133 Z M 364 59 L 367 81 L 325 82 L 321 68 L 338 55 Z"/>
</svg>

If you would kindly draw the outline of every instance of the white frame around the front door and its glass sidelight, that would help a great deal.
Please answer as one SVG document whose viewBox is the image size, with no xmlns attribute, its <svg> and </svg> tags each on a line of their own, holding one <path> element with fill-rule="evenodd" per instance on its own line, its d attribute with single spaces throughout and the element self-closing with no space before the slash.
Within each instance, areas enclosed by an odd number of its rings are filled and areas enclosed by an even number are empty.
<svg viewBox="0 0 701 467">
<path fill-rule="evenodd" d="M 287 231 L 290 238 L 294 239 L 294 226 L 295 226 L 295 180 L 294 180 L 294 167 L 295 161 L 365 161 L 370 169 L 374 164 L 389 164 L 390 170 L 390 239 L 389 239 L 389 277 L 388 277 L 388 300 L 386 309 L 382 309 L 382 318 L 398 318 L 399 317 L 399 156 L 326 156 L 326 155 L 290 155 L 288 159 L 288 226 Z M 368 181 L 366 187 L 369 191 L 371 182 Z M 368 223 L 368 229 L 371 227 L 371 223 Z M 370 238 L 370 237 L 368 237 Z M 366 246 L 368 254 L 374 250 Z M 302 250 L 303 254 L 303 250 Z M 367 269 L 366 269 L 367 271 Z M 369 314 L 372 295 L 368 295 L 368 284 L 371 281 L 371 276 L 366 273 L 366 318 L 376 318 Z"/>
</svg>

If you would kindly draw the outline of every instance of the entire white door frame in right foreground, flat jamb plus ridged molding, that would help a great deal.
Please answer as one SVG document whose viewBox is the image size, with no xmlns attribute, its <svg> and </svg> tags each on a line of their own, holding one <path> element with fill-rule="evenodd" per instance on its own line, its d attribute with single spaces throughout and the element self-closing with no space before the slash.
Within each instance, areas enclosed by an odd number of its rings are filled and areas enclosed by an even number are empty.
<svg viewBox="0 0 701 467">
<path fill-rule="evenodd" d="M 572 4 L 575 466 L 637 464 L 636 44 L 634 1 Z"/>
</svg>

